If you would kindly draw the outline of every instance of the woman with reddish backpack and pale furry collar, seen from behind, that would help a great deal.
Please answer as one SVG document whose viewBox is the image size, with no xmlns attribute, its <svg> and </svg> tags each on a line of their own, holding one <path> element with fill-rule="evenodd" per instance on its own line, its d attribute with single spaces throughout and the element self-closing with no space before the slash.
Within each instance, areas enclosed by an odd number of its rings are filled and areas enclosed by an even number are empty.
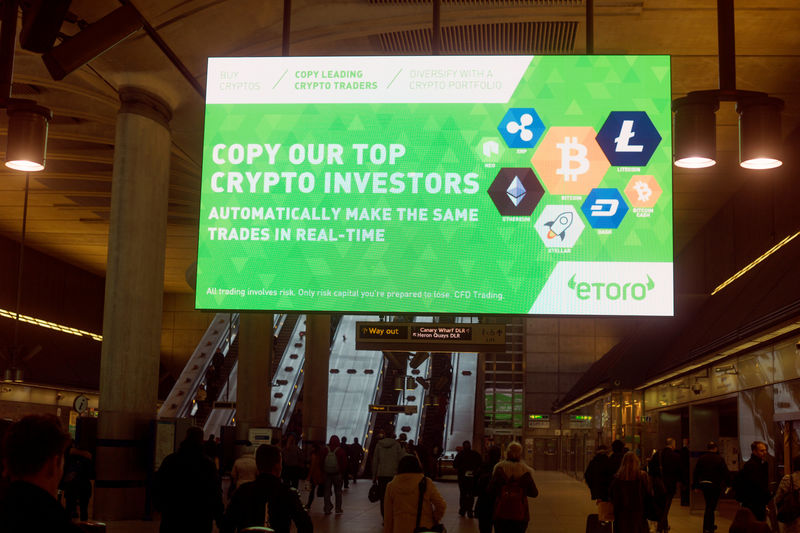
<svg viewBox="0 0 800 533">
<path fill-rule="evenodd" d="M 495 533 L 525 533 L 530 521 L 528 498 L 539 495 L 533 481 L 533 469 L 522 461 L 522 445 L 511 442 L 506 459 L 495 465 L 490 494 L 494 495 Z"/>
</svg>

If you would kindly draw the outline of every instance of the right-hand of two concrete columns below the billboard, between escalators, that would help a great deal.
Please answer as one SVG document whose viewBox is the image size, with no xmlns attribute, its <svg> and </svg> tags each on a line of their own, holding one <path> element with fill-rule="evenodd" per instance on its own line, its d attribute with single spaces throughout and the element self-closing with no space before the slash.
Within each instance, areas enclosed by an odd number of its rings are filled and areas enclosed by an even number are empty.
<svg viewBox="0 0 800 533">
<path fill-rule="evenodd" d="M 303 439 L 326 442 L 331 316 L 307 315 L 306 339 L 306 363 L 303 367 Z"/>
</svg>

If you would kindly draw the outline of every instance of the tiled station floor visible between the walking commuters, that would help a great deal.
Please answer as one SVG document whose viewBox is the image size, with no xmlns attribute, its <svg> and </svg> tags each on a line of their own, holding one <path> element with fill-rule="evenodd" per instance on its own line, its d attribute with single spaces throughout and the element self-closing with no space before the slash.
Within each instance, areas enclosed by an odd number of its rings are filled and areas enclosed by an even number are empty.
<svg viewBox="0 0 800 533">
<path fill-rule="evenodd" d="M 589 490 L 565 474 L 559 472 L 537 472 L 536 484 L 539 497 L 530 500 L 531 521 L 528 533 L 582 533 L 586 529 L 586 516 L 596 512 L 589 499 Z M 448 504 L 444 524 L 449 533 L 477 533 L 476 519 L 458 516 L 458 486 L 455 483 L 437 484 Z M 370 483 L 361 480 L 351 484 L 344 492 L 344 514 L 325 516 L 322 512 L 322 498 L 315 498 L 311 517 L 315 533 L 380 533 L 381 514 L 377 503 L 367 499 Z M 303 493 L 305 497 L 305 493 Z M 305 500 L 304 500 L 305 501 Z M 680 507 L 675 501 L 670 511 L 671 533 L 701 533 L 702 510 L 690 512 L 688 507 Z M 728 531 L 735 513 L 732 504 L 723 505 L 717 519 L 719 532 Z M 109 533 L 145 533 L 158 531 L 155 522 L 125 522 L 109 524 Z"/>
</svg>

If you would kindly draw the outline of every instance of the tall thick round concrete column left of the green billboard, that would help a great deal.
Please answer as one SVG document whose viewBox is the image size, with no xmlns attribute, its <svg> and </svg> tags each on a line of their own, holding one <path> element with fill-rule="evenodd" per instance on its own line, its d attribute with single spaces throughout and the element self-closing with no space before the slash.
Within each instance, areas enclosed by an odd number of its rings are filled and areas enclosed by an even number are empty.
<svg viewBox="0 0 800 533">
<path fill-rule="evenodd" d="M 142 518 L 152 472 L 171 111 L 145 91 L 120 91 L 108 235 L 94 515 Z"/>
</svg>

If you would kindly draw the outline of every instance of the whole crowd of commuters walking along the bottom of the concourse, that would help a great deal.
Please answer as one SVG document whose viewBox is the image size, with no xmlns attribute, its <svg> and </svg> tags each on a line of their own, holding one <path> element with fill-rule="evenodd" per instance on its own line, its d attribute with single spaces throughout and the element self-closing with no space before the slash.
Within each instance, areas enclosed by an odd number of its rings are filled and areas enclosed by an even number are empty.
<svg viewBox="0 0 800 533">
<path fill-rule="evenodd" d="M 622 441 L 612 443 L 610 453 L 600 446 L 585 472 L 598 504 L 598 512 L 587 519 L 587 531 L 670 531 L 672 500 L 679 491 L 694 490 L 705 501 L 703 532 L 713 533 L 718 502 L 729 487 L 741 504 L 731 533 L 776 532 L 777 522 L 782 532 L 800 533 L 800 456 L 792 462 L 793 473 L 783 476 L 772 491 L 766 443 L 752 443 L 751 457 L 736 476 L 728 471 L 716 443 L 706 448 L 687 476 L 684 455 L 676 450 L 674 439 L 667 439 L 645 464 Z M 12 424 L 2 453 L 0 531 L 91 530 L 85 520 L 92 456 L 75 445 L 56 417 L 29 415 Z M 528 499 L 537 497 L 539 490 L 522 454 L 521 444 L 510 442 L 504 454 L 492 446 L 484 458 L 465 441 L 455 456 L 458 514 L 477 518 L 480 533 L 524 533 L 528 528 Z M 402 435 L 379 433 L 370 457 L 364 459 L 357 439 L 348 444 L 337 436 L 305 448 L 294 435 L 280 445 L 249 446 L 233 464 L 226 506 L 218 445 L 213 436 L 204 441 L 202 430 L 191 427 L 178 450 L 156 471 L 152 503 L 160 512 L 162 533 L 210 533 L 215 522 L 221 533 L 252 528 L 310 533 L 314 528 L 309 509 L 315 497 L 322 497 L 326 515 L 344 513 L 343 489 L 368 470 L 373 483 L 370 500 L 380 502 L 384 533 L 444 533 L 447 504 L 427 475 L 431 464 L 424 447 L 406 442 Z M 301 482 L 308 489 L 305 504 Z"/>
</svg>

